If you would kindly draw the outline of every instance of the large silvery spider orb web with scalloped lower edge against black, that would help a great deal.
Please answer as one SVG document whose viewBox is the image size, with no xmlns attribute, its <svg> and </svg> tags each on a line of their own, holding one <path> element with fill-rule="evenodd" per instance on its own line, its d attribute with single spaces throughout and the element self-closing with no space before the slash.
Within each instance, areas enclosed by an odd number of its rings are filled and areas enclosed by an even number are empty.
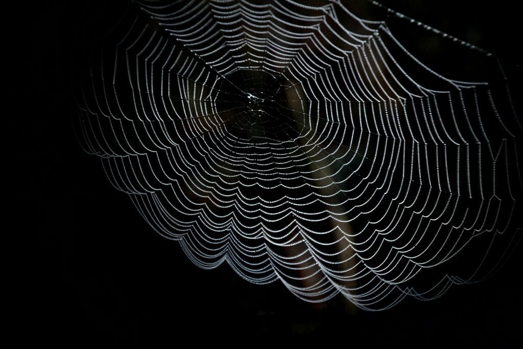
<svg viewBox="0 0 523 349">
<path fill-rule="evenodd" d="M 490 275 L 518 241 L 505 89 L 438 74 L 336 1 L 143 1 L 128 17 L 78 94 L 80 138 L 196 265 L 385 309 Z"/>
</svg>

